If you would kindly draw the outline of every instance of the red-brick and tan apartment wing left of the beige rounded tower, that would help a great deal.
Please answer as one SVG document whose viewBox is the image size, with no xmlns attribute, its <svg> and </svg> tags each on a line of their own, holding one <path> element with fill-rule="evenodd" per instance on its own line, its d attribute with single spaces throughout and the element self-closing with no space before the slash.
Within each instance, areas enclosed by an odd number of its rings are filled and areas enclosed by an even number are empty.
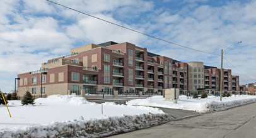
<svg viewBox="0 0 256 138">
<path fill-rule="evenodd" d="M 202 69 L 201 69 L 202 70 Z M 187 93 L 188 64 L 150 53 L 131 43 L 109 41 L 70 50 L 70 55 L 42 63 L 40 70 L 18 75 L 18 95 L 80 95 L 118 91 L 163 93 L 180 88 Z"/>
</svg>

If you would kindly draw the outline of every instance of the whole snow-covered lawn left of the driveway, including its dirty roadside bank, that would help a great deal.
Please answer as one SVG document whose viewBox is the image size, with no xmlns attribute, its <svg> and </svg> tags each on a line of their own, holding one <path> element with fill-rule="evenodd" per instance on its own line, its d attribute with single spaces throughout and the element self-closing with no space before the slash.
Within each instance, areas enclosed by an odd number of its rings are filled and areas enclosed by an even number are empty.
<svg viewBox="0 0 256 138">
<path fill-rule="evenodd" d="M 35 105 L 8 102 L 11 117 L 6 106 L 0 105 L 0 137 L 100 137 L 172 120 L 160 109 L 95 104 L 74 95 L 38 98 Z"/>
</svg>

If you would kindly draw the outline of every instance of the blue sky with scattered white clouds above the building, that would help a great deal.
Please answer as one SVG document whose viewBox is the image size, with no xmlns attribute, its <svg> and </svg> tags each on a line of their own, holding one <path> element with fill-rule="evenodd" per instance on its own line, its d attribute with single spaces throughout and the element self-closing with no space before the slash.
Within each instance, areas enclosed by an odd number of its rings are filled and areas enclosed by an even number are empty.
<svg viewBox="0 0 256 138">
<path fill-rule="evenodd" d="M 128 29 L 63 8 L 45 0 L 0 1 L 0 88 L 15 89 L 20 73 L 40 70 L 41 63 L 69 55 L 71 48 L 106 41 L 129 42 L 174 60 L 202 61 L 256 82 L 256 0 L 52 0 Z M 217 56 L 216 56 L 217 55 Z"/>
</svg>

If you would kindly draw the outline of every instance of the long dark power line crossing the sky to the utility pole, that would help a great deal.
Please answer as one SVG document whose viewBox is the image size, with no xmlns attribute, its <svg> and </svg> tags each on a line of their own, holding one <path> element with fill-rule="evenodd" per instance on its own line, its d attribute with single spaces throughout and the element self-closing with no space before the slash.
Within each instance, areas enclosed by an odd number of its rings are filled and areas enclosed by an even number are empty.
<svg viewBox="0 0 256 138">
<path fill-rule="evenodd" d="M 49 1 L 49 0 L 45 0 L 45 1 Z M 107 20 L 105 20 L 105 19 L 98 18 L 98 17 L 96 17 L 96 16 L 92 16 L 91 14 L 87 14 L 87 13 L 84 13 L 84 12 L 82 12 L 82 11 L 78 11 L 78 10 L 76 10 L 76 9 L 69 8 L 69 7 L 64 6 L 64 5 L 62 5 L 62 4 L 55 3 L 55 2 L 53 2 L 53 1 L 49 1 L 49 2 L 50 2 L 50 3 L 57 4 L 57 5 L 59 5 L 59 6 L 62 6 L 62 7 L 64 7 L 64 8 L 67 8 L 67 9 L 71 9 L 71 10 L 76 11 L 76 12 L 78 12 L 78 13 L 85 14 L 85 15 L 90 16 L 90 17 L 92 17 L 92 18 L 96 18 L 96 19 L 99 19 L 99 20 L 101 20 L 101 21 L 105 21 L 105 22 L 110 23 L 110 24 L 113 24 L 113 25 L 115 25 L 115 26 L 119 26 L 120 28 L 129 29 L 130 31 L 134 31 L 134 32 L 136 32 L 136 33 L 143 34 L 143 35 L 145 35 L 145 36 L 148 36 L 148 37 L 150 37 L 150 38 L 154 38 L 154 39 L 156 39 L 156 40 L 164 41 L 164 42 L 170 43 L 170 44 L 172 44 L 172 45 L 177 45 L 177 46 L 180 46 L 180 47 L 183 47 L 183 48 L 187 48 L 187 49 L 189 49 L 189 50 L 199 51 L 199 52 L 201 52 L 201 53 L 206 53 L 206 54 L 209 54 L 209 55 L 221 56 L 221 55 L 209 53 L 209 52 L 206 52 L 206 51 L 201 51 L 201 50 L 196 50 L 196 49 L 194 49 L 194 48 L 189 48 L 189 47 L 187 47 L 187 46 L 178 45 L 178 44 L 176 44 L 176 43 L 172 43 L 172 42 L 170 42 L 170 41 L 163 40 L 163 39 L 161 39 L 161 38 L 156 38 L 155 36 L 151 36 L 151 35 L 149 35 L 149 34 L 146 34 L 146 33 L 140 32 L 140 31 L 136 31 L 135 29 L 127 28 L 127 27 L 125 27 L 125 26 L 122 26 L 122 25 L 119 25 L 119 24 L 116 24 L 116 23 L 112 23 L 112 22 L 110 22 L 110 21 L 107 21 Z"/>
</svg>

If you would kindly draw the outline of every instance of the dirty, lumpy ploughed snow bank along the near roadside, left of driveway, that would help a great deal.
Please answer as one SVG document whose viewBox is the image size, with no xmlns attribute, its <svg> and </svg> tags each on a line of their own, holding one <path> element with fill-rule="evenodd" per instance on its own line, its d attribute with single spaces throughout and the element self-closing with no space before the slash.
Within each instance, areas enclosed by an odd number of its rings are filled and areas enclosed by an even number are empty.
<svg viewBox="0 0 256 138">
<path fill-rule="evenodd" d="M 168 114 L 123 115 L 107 119 L 74 119 L 67 122 L 26 127 L 25 130 L 5 130 L 0 137 L 106 137 L 173 120 Z"/>
</svg>

